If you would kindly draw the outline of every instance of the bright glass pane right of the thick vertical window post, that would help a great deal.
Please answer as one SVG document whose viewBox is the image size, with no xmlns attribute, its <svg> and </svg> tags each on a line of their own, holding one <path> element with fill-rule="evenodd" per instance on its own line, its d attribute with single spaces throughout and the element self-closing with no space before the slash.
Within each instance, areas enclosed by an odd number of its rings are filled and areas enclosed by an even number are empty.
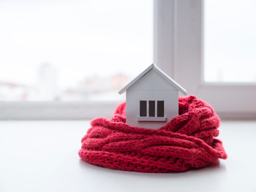
<svg viewBox="0 0 256 192">
<path fill-rule="evenodd" d="M 204 81 L 256 82 L 256 1 L 204 1 Z"/>
</svg>

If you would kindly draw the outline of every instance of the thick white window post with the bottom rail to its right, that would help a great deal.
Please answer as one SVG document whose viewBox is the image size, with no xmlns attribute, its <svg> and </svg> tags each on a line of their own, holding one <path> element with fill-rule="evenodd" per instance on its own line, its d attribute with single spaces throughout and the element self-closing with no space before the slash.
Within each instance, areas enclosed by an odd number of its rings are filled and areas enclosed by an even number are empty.
<svg viewBox="0 0 256 192">
<path fill-rule="evenodd" d="M 155 0 L 154 63 L 226 119 L 256 119 L 256 83 L 205 83 L 204 1 Z"/>
</svg>

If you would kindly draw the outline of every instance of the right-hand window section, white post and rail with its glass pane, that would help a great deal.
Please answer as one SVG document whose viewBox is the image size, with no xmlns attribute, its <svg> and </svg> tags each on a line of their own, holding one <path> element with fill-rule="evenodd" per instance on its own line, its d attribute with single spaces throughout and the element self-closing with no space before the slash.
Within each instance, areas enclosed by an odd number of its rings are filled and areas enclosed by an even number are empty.
<svg viewBox="0 0 256 192">
<path fill-rule="evenodd" d="M 156 65 L 169 63 L 161 69 L 188 94 L 210 103 L 222 119 L 256 117 L 254 7 L 252 1 L 155 1 Z M 228 19 L 222 17 L 224 12 Z M 229 17 L 234 12 L 239 18 Z M 169 17 L 163 20 L 165 14 Z M 232 25 L 233 31 L 223 31 Z"/>
</svg>

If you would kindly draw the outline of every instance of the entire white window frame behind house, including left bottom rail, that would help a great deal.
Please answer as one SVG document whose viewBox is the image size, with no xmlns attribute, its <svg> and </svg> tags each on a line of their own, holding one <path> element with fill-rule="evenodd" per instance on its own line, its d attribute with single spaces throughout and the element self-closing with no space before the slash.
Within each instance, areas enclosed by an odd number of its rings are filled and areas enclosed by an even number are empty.
<svg viewBox="0 0 256 192">
<path fill-rule="evenodd" d="M 155 0 L 154 63 L 179 82 L 188 95 L 210 103 L 220 117 L 255 119 L 255 83 L 204 82 L 203 20 L 203 0 Z M 0 119 L 110 118 L 117 104 L 105 101 L 0 102 Z"/>
</svg>

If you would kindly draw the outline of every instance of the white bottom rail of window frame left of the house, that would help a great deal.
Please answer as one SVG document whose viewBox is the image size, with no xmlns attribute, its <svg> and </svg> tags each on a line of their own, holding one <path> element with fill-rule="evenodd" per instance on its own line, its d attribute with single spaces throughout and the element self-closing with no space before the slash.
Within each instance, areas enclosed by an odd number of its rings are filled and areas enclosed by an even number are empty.
<svg viewBox="0 0 256 192">
<path fill-rule="evenodd" d="M 116 93 L 118 95 L 118 93 Z M 120 96 L 120 95 L 118 95 Z M 0 119 L 92 119 L 95 116 L 111 118 L 120 101 L 77 101 L 77 102 L 0 102 Z"/>
</svg>

